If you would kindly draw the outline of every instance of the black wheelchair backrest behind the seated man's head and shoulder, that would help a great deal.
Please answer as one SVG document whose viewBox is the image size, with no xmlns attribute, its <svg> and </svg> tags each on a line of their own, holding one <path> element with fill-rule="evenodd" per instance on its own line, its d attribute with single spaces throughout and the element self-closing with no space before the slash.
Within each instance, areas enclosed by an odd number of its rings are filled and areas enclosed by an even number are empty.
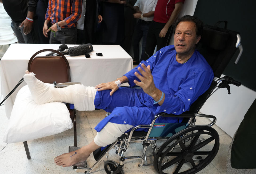
<svg viewBox="0 0 256 174">
<path fill-rule="evenodd" d="M 220 21 L 221 22 L 221 21 Z M 213 69 L 214 76 L 220 77 L 237 50 L 237 34 L 225 28 L 205 25 L 197 50 L 204 56 Z M 225 21 L 227 24 L 227 22 Z"/>
</svg>

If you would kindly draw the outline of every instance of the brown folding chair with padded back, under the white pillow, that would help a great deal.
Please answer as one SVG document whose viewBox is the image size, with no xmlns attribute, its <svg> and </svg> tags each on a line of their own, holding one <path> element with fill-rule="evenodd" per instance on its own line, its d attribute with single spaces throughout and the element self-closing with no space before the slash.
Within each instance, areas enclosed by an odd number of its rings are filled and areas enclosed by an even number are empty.
<svg viewBox="0 0 256 174">
<path fill-rule="evenodd" d="M 60 56 L 38 56 L 39 53 L 44 51 L 52 51 L 58 53 Z M 70 68 L 69 62 L 65 56 L 56 50 L 43 49 L 36 52 L 29 60 L 27 70 L 35 73 L 35 77 L 44 83 L 66 83 L 71 82 L 70 80 Z M 70 113 L 70 118 L 73 122 L 74 127 L 74 145 L 77 146 L 77 127 L 76 127 L 76 112 L 75 109 L 70 109 L 69 104 L 67 108 Z M 27 159 L 31 159 L 27 142 L 23 142 Z"/>
</svg>

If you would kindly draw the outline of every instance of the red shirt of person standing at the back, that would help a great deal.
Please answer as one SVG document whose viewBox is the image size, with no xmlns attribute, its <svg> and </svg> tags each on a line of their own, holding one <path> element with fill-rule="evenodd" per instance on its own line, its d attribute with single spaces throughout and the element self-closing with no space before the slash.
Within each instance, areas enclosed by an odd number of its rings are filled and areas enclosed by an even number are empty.
<svg viewBox="0 0 256 174">
<path fill-rule="evenodd" d="M 153 20 L 155 22 L 167 23 L 174 10 L 175 4 L 177 2 L 184 3 L 184 1 L 185 0 L 158 0 Z"/>
</svg>

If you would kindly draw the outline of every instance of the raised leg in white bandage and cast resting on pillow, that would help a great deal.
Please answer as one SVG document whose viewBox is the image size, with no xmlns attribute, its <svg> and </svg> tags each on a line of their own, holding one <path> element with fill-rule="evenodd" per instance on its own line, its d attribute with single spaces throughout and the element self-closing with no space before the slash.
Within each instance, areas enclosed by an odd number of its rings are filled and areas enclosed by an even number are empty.
<svg viewBox="0 0 256 174">
<path fill-rule="evenodd" d="M 70 85 L 65 88 L 54 88 L 38 80 L 32 73 L 25 74 L 32 98 L 41 105 L 50 102 L 65 102 L 75 105 L 80 111 L 95 110 L 94 98 L 97 89 L 79 84 Z"/>
</svg>

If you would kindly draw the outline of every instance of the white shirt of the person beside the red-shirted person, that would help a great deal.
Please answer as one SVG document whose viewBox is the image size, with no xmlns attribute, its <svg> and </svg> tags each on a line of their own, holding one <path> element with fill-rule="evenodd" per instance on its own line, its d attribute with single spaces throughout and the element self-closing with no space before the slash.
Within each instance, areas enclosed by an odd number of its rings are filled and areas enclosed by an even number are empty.
<svg viewBox="0 0 256 174">
<path fill-rule="evenodd" d="M 134 4 L 135 6 L 139 7 L 139 10 L 144 13 L 148 13 L 150 11 L 155 11 L 155 6 L 157 5 L 157 0 L 137 0 L 137 2 Z M 145 21 L 152 21 L 154 16 L 147 17 L 147 18 L 141 18 Z"/>
</svg>

